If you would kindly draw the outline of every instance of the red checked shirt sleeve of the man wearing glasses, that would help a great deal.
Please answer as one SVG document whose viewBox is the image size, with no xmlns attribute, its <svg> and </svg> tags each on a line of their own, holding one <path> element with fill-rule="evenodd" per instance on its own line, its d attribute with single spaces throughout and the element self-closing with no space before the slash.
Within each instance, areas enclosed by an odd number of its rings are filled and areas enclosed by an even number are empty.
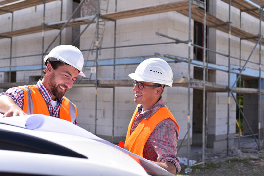
<svg viewBox="0 0 264 176">
<path fill-rule="evenodd" d="M 171 119 L 166 119 L 156 126 L 145 145 L 152 146 L 157 162 L 172 162 L 176 167 L 176 174 L 181 171 L 179 159 L 176 157 L 178 139 L 179 129 Z"/>
</svg>

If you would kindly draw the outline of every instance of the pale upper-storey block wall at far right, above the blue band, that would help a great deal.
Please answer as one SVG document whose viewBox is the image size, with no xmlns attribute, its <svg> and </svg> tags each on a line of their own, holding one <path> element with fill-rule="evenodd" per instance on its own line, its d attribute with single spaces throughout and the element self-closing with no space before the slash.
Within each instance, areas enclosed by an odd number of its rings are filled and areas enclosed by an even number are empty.
<svg viewBox="0 0 264 176">
<path fill-rule="evenodd" d="M 210 0 L 209 2 L 210 5 L 210 9 L 209 9 L 209 13 L 211 13 L 212 15 L 216 16 L 217 18 L 228 22 L 228 8 L 229 5 L 221 0 Z M 240 10 L 231 6 L 231 26 L 235 26 L 237 28 L 240 28 Z M 245 30 L 246 32 L 249 32 L 253 35 L 259 35 L 259 25 L 260 25 L 260 21 L 258 18 L 255 18 L 251 15 L 248 15 L 246 12 L 242 12 L 241 15 L 241 29 Z M 217 40 L 220 40 L 217 42 L 217 51 L 222 52 L 222 53 L 227 53 L 225 51 L 224 48 L 228 48 L 228 34 L 227 33 L 223 33 L 220 31 L 217 31 L 216 33 L 220 33 L 218 35 L 220 35 L 221 37 L 219 38 L 219 36 L 217 35 Z M 262 25 L 261 27 L 261 34 L 264 35 L 264 25 Z M 222 37 L 222 35 L 224 35 Z M 239 58 L 239 43 L 240 40 L 238 37 L 235 37 L 232 35 L 232 30 L 231 30 L 231 56 L 237 57 Z M 220 45 L 219 45 L 220 44 Z M 253 42 L 248 42 L 246 40 L 242 40 L 242 44 L 241 44 L 241 58 L 244 60 L 247 60 L 247 58 L 249 57 L 249 54 L 251 53 L 251 51 L 253 50 L 254 46 L 256 43 Z M 263 50 L 263 48 L 262 48 Z M 262 52 L 261 57 L 264 57 L 264 53 Z M 222 59 L 224 60 L 224 59 Z M 227 58 L 226 58 L 227 61 Z M 253 52 L 250 61 L 255 62 L 255 63 L 259 63 L 259 46 L 257 46 L 257 48 L 255 49 L 255 51 Z M 243 64 L 245 62 L 242 62 Z M 224 63 L 217 63 L 219 65 L 222 65 Z M 239 60 L 237 59 L 231 59 L 231 64 L 232 65 L 237 65 L 239 66 Z M 242 64 L 242 66 L 243 66 Z M 254 64 L 254 63 L 248 63 L 246 65 L 246 68 L 253 68 L 253 69 L 258 69 L 258 65 Z"/>
</svg>

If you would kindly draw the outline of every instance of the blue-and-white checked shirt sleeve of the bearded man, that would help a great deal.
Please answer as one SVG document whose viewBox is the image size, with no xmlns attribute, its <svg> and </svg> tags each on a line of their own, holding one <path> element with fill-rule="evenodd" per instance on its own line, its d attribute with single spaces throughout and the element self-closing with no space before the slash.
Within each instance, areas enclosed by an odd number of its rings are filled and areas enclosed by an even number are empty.
<svg viewBox="0 0 264 176">
<path fill-rule="evenodd" d="M 22 108 L 24 103 L 24 91 L 19 87 L 9 88 L 6 92 L 2 92 L 1 95 L 7 95 L 11 97 L 15 104 Z"/>
</svg>

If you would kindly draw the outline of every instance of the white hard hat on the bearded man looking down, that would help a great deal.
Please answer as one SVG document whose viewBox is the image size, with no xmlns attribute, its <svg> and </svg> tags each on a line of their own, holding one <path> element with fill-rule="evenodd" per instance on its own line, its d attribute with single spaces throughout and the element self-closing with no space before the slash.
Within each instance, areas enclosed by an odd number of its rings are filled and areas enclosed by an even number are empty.
<svg viewBox="0 0 264 176">
<path fill-rule="evenodd" d="M 55 58 L 57 61 L 61 61 L 64 63 L 73 66 L 77 70 L 79 70 L 80 76 L 85 76 L 82 72 L 83 67 L 83 55 L 82 52 L 75 46 L 72 45 L 60 45 L 54 47 L 47 56 L 43 59 L 44 62 L 48 60 L 48 58 Z M 52 60 L 54 61 L 54 60 Z"/>
</svg>

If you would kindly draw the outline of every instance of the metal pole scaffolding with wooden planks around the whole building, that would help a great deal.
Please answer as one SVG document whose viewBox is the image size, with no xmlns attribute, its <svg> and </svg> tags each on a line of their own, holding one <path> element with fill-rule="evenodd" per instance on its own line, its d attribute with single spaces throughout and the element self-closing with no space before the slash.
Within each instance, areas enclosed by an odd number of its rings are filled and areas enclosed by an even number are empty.
<svg viewBox="0 0 264 176">
<path fill-rule="evenodd" d="M 112 141 L 114 138 L 114 110 L 115 110 L 115 87 L 128 87 L 131 86 L 131 81 L 130 80 L 116 80 L 115 79 L 115 66 L 116 64 L 116 49 L 117 48 L 123 48 L 123 47 L 135 47 L 135 46 L 145 46 L 145 45 L 159 45 L 159 44 L 178 44 L 178 43 L 184 43 L 184 44 L 188 44 L 188 58 L 181 58 L 181 57 L 177 57 L 177 56 L 171 56 L 171 55 L 160 55 L 162 57 L 165 58 L 169 58 L 172 59 L 173 62 L 177 63 L 177 62 L 186 62 L 188 63 L 188 78 L 179 78 L 179 79 L 173 79 L 173 86 L 180 86 L 180 87 L 186 87 L 188 88 L 188 107 L 187 107 L 187 133 L 185 134 L 183 140 L 185 140 L 185 137 L 187 135 L 187 157 L 188 157 L 188 167 L 189 167 L 189 158 L 190 158 L 190 89 L 199 89 L 203 91 L 203 110 L 202 110 L 202 119 L 203 119 L 203 125 L 202 125 L 202 163 L 205 162 L 205 154 L 206 154 L 206 143 L 207 143 L 207 130 L 206 130 L 206 126 L 207 126 L 207 107 L 206 107 L 206 102 L 207 102 L 207 93 L 208 92 L 226 92 L 227 93 L 227 102 L 228 102 L 228 108 L 227 108 L 227 151 L 226 154 L 229 155 L 229 140 L 234 139 L 234 138 L 230 138 L 229 137 L 229 120 L 230 120 L 230 97 L 232 97 L 235 102 L 236 105 L 238 106 L 239 110 L 240 110 L 240 115 L 242 115 L 243 119 L 245 120 L 245 123 L 248 125 L 249 130 L 251 131 L 251 135 L 253 136 L 258 148 L 260 149 L 261 144 L 260 144 L 260 119 L 261 119 L 261 95 L 264 95 L 264 90 L 261 89 L 261 66 L 263 65 L 261 63 L 261 46 L 264 45 L 264 41 L 262 41 L 262 35 L 261 35 L 261 25 L 262 25 L 262 21 L 264 21 L 264 17 L 263 17 L 263 7 L 264 7 L 264 2 L 261 0 L 251 0 L 252 2 L 258 4 L 260 7 L 257 8 L 255 5 L 249 3 L 248 1 L 245 0 L 222 0 L 223 2 L 226 2 L 229 4 L 229 19 L 228 22 L 224 22 L 218 18 L 216 18 L 215 16 L 211 15 L 210 13 L 207 12 L 206 9 L 206 0 L 204 2 L 201 2 L 199 0 L 185 0 L 182 2 L 175 2 L 175 3 L 168 3 L 168 4 L 163 4 L 163 5 L 157 5 L 157 6 L 151 6 L 151 7 L 146 7 L 146 8 L 140 8 L 140 9 L 134 9 L 134 10 L 127 10 L 127 11 L 121 11 L 121 12 L 117 12 L 117 0 L 115 0 L 115 12 L 113 13 L 105 13 L 105 14 L 101 14 L 100 11 L 100 0 L 98 0 L 98 9 L 97 9 L 97 13 L 95 15 L 92 16 L 87 16 L 87 17 L 79 17 L 79 18 L 72 18 L 74 13 L 76 12 L 76 10 L 81 6 L 81 4 L 84 2 L 84 0 L 81 0 L 78 7 L 74 10 L 74 12 L 72 13 L 71 17 L 68 18 L 68 20 L 65 21 L 59 21 L 59 22 L 50 22 L 50 23 L 45 23 L 45 4 L 48 2 L 52 2 L 52 1 L 56 1 L 56 0 L 24 0 L 18 3 L 14 3 L 16 1 L 19 0 L 4 0 L 2 2 L 0 2 L 0 6 L 1 5 L 5 5 L 5 4 L 10 4 L 10 5 L 6 5 L 3 7 L 0 7 L 0 15 L 5 14 L 5 13 L 12 13 L 12 22 L 11 22 L 11 31 L 9 32 L 4 32 L 4 33 L 0 33 L 0 39 L 3 38 L 10 38 L 11 42 L 10 42 L 10 57 L 8 58 L 0 58 L 0 59 L 9 59 L 10 60 L 10 67 L 9 67 L 9 83 L 0 83 L 0 88 L 11 88 L 14 86 L 18 86 L 21 84 L 35 84 L 34 83 L 11 83 L 10 80 L 10 76 L 11 76 L 11 66 L 12 66 L 12 58 L 22 58 L 22 57 L 28 57 L 28 56 L 19 56 L 19 57 L 12 57 L 12 37 L 15 36 L 20 36 L 20 35 L 26 35 L 26 34 L 32 34 L 32 33 L 38 33 L 38 32 L 42 32 L 42 52 L 41 54 L 37 54 L 37 55 L 30 55 L 30 56 L 41 56 L 41 60 L 42 60 L 42 64 L 41 67 L 39 68 L 40 70 L 43 69 L 43 55 L 47 53 L 48 49 L 50 48 L 50 46 L 54 43 L 54 41 L 57 39 L 57 37 L 60 36 L 61 32 L 63 31 L 64 28 L 66 27 L 72 27 L 72 26 L 79 26 L 79 25 L 86 25 L 86 27 L 84 28 L 84 30 L 80 33 L 80 35 L 77 37 L 79 38 L 81 36 L 81 34 L 89 27 L 89 25 L 91 23 L 96 23 L 96 45 L 93 45 L 93 48 L 87 49 L 87 50 L 82 50 L 83 52 L 90 52 L 90 51 L 95 51 L 96 52 L 96 59 L 95 59 L 95 66 L 96 66 L 96 70 L 99 66 L 98 64 L 98 52 L 100 50 L 103 49 L 113 49 L 114 50 L 114 56 L 113 56 L 113 60 L 114 60 L 114 64 L 112 65 L 108 65 L 108 66 L 113 66 L 114 72 L 113 72 L 113 80 L 99 80 L 98 79 L 98 74 L 96 71 L 96 79 L 95 80 L 81 80 L 79 82 L 74 83 L 73 87 L 95 87 L 96 88 L 96 110 L 95 110 L 95 134 L 96 134 L 96 121 L 97 121 L 97 88 L 98 87 L 102 87 L 102 88 L 113 88 L 113 121 L 112 121 L 112 125 L 113 125 L 113 129 L 112 129 Z M 62 0 L 61 1 L 61 7 L 62 7 Z M 25 28 L 25 29 L 20 29 L 20 30 L 15 30 L 13 31 L 13 12 L 16 10 L 21 10 L 27 7 L 32 7 L 35 5 L 40 5 L 40 4 L 44 4 L 44 9 L 43 9 L 43 23 L 39 26 L 35 26 L 35 27 L 30 27 L 30 28 Z M 259 34 L 255 35 L 255 34 L 251 34 L 249 32 L 246 32 L 244 30 L 235 26 L 231 25 L 231 20 L 230 20 L 230 16 L 231 16 L 231 6 L 234 6 L 235 8 L 240 10 L 240 24 L 241 24 L 241 16 L 242 16 L 242 12 L 248 13 L 249 15 L 256 17 L 259 19 Z M 143 16 L 143 15 L 150 15 L 150 14 L 155 14 L 155 13 L 162 13 L 162 12 L 170 12 L 170 11 L 177 11 L 185 16 L 187 16 L 189 18 L 189 30 L 188 30 L 188 40 L 186 41 L 182 41 L 179 40 L 177 38 L 173 38 L 170 36 L 166 36 L 164 34 L 161 33 L 156 33 L 156 35 L 159 36 L 163 36 L 166 38 L 171 39 L 173 42 L 167 42 L 167 43 L 155 43 L 155 44 L 137 44 L 137 45 L 126 45 L 126 46 L 116 46 L 116 21 L 119 19 L 124 19 L 124 18 L 131 18 L 131 17 L 138 17 L 138 16 Z M 62 14 L 62 8 L 61 8 L 61 14 Z M 99 28 L 99 21 L 102 20 L 108 20 L 108 21 L 112 21 L 114 22 L 114 46 L 113 47 L 102 47 L 101 44 L 99 44 L 99 32 L 98 32 L 98 28 Z M 191 41 L 191 20 L 200 22 L 203 24 L 204 26 L 204 30 L 203 30 L 203 37 L 204 37 L 204 41 L 206 41 L 206 28 L 214 28 L 216 30 L 228 33 L 228 54 L 226 53 L 221 53 L 221 52 L 217 52 L 214 51 L 212 49 L 209 49 L 206 47 L 206 42 L 204 42 L 203 46 L 199 46 L 196 44 L 192 44 Z M 48 48 L 46 50 L 44 50 L 44 31 L 48 31 L 48 30 L 59 30 L 57 36 L 54 38 L 54 40 L 51 42 L 51 44 L 49 44 Z M 231 40 L 231 35 L 232 36 L 236 36 L 238 38 L 240 38 L 240 57 L 234 57 L 231 56 L 230 54 L 230 49 L 231 49 L 231 44 L 230 44 L 230 40 Z M 241 58 L 241 40 L 247 40 L 249 42 L 255 43 L 255 47 L 253 48 L 250 56 L 248 57 L 247 60 L 244 60 Z M 75 41 L 74 41 L 75 42 Z M 74 43 L 73 42 L 73 43 Z M 252 62 L 250 61 L 250 57 L 253 53 L 253 51 L 256 49 L 257 45 L 259 45 L 259 62 Z M 191 46 L 193 47 L 197 47 L 197 48 L 201 48 L 203 49 L 203 62 L 199 63 L 199 62 L 195 62 L 193 59 L 191 59 Z M 208 53 L 209 52 L 213 52 L 222 56 L 225 56 L 228 58 L 228 68 L 227 69 L 221 69 L 219 67 L 216 67 L 214 65 L 210 65 L 210 63 L 208 62 Z M 230 60 L 232 59 L 236 59 L 239 60 L 240 62 L 240 66 L 238 68 L 238 72 L 231 70 L 230 67 Z M 245 62 L 244 66 L 241 66 L 241 61 Z M 252 64 L 257 64 L 259 65 L 259 77 L 258 77 L 258 88 L 242 88 L 241 85 L 240 87 L 235 87 L 237 81 L 241 82 L 241 74 L 244 71 L 244 68 L 246 66 L 247 63 L 252 63 Z M 191 70 L 191 65 L 192 66 L 199 66 L 202 67 L 203 69 L 203 80 L 198 80 L 198 79 L 193 79 L 191 78 L 191 74 L 190 74 L 190 70 Z M 85 64 L 84 67 L 88 67 L 90 65 Z M 212 70 L 220 70 L 220 71 L 224 71 L 228 73 L 228 85 L 224 86 L 224 85 L 220 85 L 220 84 L 216 84 L 216 83 L 212 83 L 208 81 L 208 70 L 212 69 Z M 234 82 L 233 85 L 230 85 L 230 74 L 231 73 L 236 73 L 238 74 L 236 81 Z M 239 102 L 237 102 L 236 97 L 234 95 L 234 93 L 239 94 L 239 98 L 241 94 L 257 94 L 258 95 L 258 134 L 254 134 L 254 132 L 252 131 L 250 125 L 248 124 L 247 118 L 245 117 L 245 115 L 243 114 L 243 111 L 240 109 L 240 100 Z M 231 99 L 232 99 L 231 98 Z M 240 116 L 239 116 L 240 117 Z M 240 121 L 239 121 L 240 122 Z M 240 123 L 239 123 L 239 129 L 240 129 Z M 256 135 L 258 135 L 258 139 L 255 137 Z M 236 137 L 235 139 L 239 139 L 240 141 L 240 131 L 239 131 L 239 137 Z M 183 141 L 182 140 L 182 141 Z"/>
</svg>

